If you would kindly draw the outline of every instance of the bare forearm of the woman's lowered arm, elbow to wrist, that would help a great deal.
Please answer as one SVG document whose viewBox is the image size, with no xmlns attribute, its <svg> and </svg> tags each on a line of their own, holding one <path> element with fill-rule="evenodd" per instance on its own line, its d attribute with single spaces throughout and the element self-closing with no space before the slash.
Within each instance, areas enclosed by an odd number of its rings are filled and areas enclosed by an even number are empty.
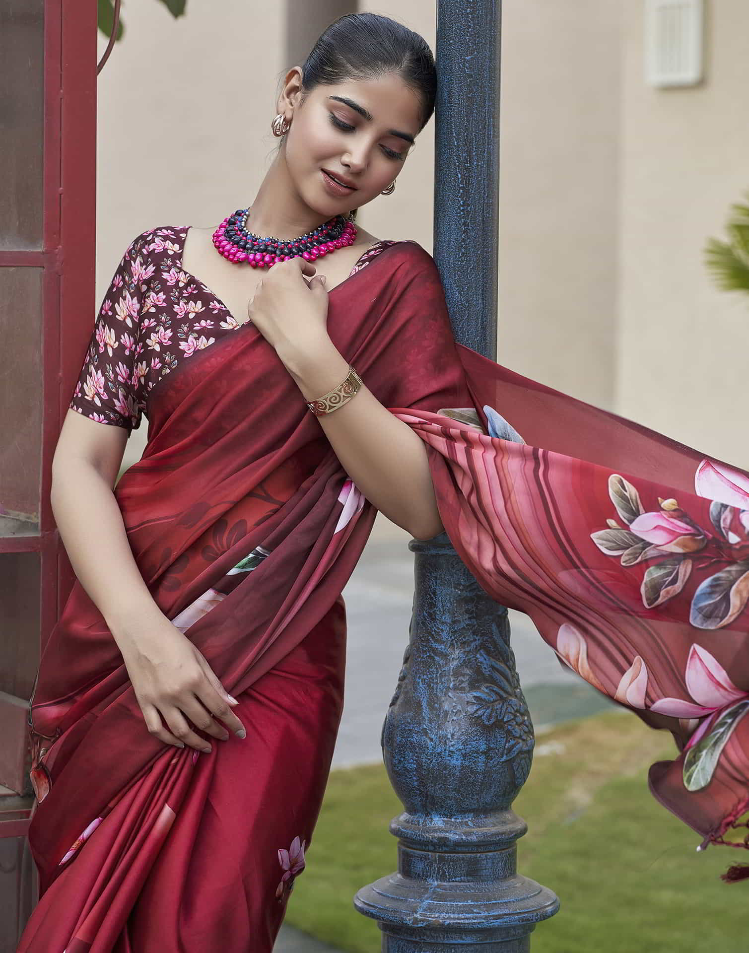
<svg viewBox="0 0 749 953">
<path fill-rule="evenodd" d="M 118 645 L 161 615 L 140 575 L 111 486 L 85 460 L 52 476 L 51 507 L 71 566 Z"/>
</svg>

